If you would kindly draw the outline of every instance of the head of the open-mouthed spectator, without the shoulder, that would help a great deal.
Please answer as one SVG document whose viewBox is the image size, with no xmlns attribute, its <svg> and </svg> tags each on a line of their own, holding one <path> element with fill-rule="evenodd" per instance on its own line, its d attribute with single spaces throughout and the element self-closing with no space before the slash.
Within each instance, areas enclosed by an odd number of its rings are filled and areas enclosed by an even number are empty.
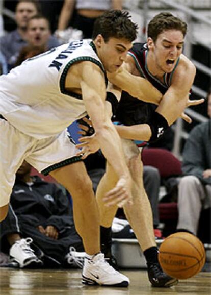
<svg viewBox="0 0 211 295">
<path fill-rule="evenodd" d="M 45 46 L 50 36 L 46 19 L 31 19 L 28 23 L 27 39 L 33 46 Z"/>
</svg>

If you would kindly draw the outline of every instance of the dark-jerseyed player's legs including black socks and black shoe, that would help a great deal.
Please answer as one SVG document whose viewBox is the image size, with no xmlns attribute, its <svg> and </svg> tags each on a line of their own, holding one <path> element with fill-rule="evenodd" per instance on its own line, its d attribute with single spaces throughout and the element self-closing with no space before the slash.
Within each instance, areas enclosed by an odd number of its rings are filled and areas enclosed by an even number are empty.
<svg viewBox="0 0 211 295">
<path fill-rule="evenodd" d="M 167 276 L 162 271 L 157 260 L 158 253 L 153 232 L 152 211 L 143 186 L 143 164 L 140 159 L 140 152 L 133 141 L 122 140 L 122 145 L 133 179 L 133 204 L 126 204 L 123 208 L 147 260 L 149 281 L 154 287 L 173 286 L 177 283 L 177 280 Z M 102 192 L 104 193 L 106 188 L 111 189 L 110 186 L 114 186 L 115 181 L 114 171 L 112 171 L 112 167 L 108 164 L 107 175 L 100 182 L 99 190 L 97 191 L 97 201 L 100 207 L 100 222 L 105 227 L 103 228 L 105 234 L 107 234 L 106 228 L 109 229 L 111 227 L 112 214 L 114 216 L 117 207 L 109 207 L 109 211 L 108 207 L 102 201 Z"/>
</svg>

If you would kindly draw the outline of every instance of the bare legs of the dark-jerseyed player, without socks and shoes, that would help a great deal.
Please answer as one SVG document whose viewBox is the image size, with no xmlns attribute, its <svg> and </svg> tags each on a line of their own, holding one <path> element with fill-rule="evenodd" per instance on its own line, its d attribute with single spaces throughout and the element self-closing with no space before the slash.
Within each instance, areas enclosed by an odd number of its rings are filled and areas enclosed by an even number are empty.
<svg viewBox="0 0 211 295">
<path fill-rule="evenodd" d="M 141 249 L 144 251 L 152 246 L 156 246 L 152 211 L 148 196 L 143 187 L 143 165 L 140 160 L 138 147 L 130 140 L 122 140 L 127 164 L 133 178 L 133 205 L 124 205 L 125 215 L 131 228 L 136 233 Z M 97 192 L 97 203 L 100 212 L 100 225 L 109 228 L 117 211 L 117 206 L 105 206 L 103 195 L 112 189 L 117 182 L 117 177 L 111 165 L 107 164 L 107 173 L 101 179 Z M 147 233 L 147 234 L 143 234 Z"/>
</svg>

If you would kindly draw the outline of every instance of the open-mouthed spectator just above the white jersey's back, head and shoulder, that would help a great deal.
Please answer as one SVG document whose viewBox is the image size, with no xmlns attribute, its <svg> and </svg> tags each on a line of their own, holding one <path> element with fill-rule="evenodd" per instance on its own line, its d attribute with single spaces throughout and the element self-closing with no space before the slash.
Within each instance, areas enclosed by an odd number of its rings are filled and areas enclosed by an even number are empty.
<svg viewBox="0 0 211 295">
<path fill-rule="evenodd" d="M 28 44 L 22 47 L 15 65 L 21 64 L 27 58 L 31 58 L 47 50 L 50 38 L 49 21 L 42 15 L 33 16 L 27 24 Z"/>
</svg>

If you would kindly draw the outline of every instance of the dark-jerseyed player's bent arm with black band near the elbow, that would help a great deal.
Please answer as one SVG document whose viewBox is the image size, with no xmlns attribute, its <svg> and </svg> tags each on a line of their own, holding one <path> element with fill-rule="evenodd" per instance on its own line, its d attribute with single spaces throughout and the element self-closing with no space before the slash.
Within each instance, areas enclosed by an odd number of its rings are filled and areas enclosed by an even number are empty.
<svg viewBox="0 0 211 295">
<path fill-rule="evenodd" d="M 184 120 L 191 122 L 191 118 L 183 113 L 184 109 L 204 102 L 204 99 L 189 100 L 189 91 L 192 87 L 195 73 L 196 69 L 192 62 L 181 55 L 180 63 L 173 76 L 172 85 L 163 96 L 159 107 L 157 107 L 156 112 L 148 121 L 148 125 L 117 126 L 119 135 L 127 139 L 155 141 L 160 138 L 177 118 L 182 117 Z"/>
</svg>

